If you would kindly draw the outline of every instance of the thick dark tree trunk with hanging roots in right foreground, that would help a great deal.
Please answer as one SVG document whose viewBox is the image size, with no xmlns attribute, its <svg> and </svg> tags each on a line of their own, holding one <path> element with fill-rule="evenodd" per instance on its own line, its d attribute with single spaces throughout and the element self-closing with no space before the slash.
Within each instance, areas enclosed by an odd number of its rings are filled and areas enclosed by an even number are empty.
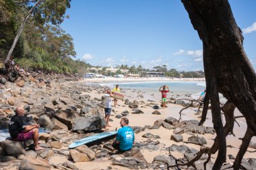
<svg viewBox="0 0 256 170">
<path fill-rule="evenodd" d="M 243 49 L 241 29 L 236 25 L 228 1 L 181 1 L 189 13 L 193 28 L 203 41 L 203 65 L 211 104 L 216 107 L 219 104 L 213 93 L 217 89 L 245 116 L 249 130 L 244 138 L 251 140 L 251 136 L 256 134 L 256 75 Z M 226 140 L 223 140 L 225 135 L 219 116 L 220 110 L 217 107 L 212 110 L 212 118 L 214 128 L 217 128 L 217 140 L 220 141 L 218 148 L 224 151 L 221 147 L 226 146 Z M 234 169 L 238 169 L 241 164 L 247 146 L 248 141 L 243 145 L 243 151 L 238 152 Z M 223 163 L 225 157 L 219 154 L 218 163 Z M 216 165 L 217 161 L 214 169 L 221 167 Z"/>
</svg>

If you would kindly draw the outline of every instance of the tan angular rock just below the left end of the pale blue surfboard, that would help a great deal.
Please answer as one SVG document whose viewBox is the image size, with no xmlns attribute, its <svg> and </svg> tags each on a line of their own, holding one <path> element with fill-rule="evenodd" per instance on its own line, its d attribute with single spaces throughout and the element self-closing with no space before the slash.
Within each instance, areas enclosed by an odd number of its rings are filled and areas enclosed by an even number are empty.
<svg viewBox="0 0 256 170">
<path fill-rule="evenodd" d="M 70 155 L 75 163 L 88 162 L 95 159 L 95 153 L 88 146 L 82 145 L 70 151 Z"/>
</svg>

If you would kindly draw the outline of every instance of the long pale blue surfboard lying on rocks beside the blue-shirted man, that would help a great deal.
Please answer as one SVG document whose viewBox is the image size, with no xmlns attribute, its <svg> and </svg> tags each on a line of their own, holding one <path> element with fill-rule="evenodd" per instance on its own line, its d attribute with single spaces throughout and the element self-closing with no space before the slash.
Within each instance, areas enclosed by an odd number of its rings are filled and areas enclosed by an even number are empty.
<svg viewBox="0 0 256 170">
<path fill-rule="evenodd" d="M 102 138 L 106 138 L 106 137 L 110 137 L 110 136 L 115 136 L 115 135 L 117 135 L 117 131 L 115 131 L 115 130 L 114 131 L 110 131 L 110 132 L 102 132 L 100 134 L 94 134 L 92 136 L 88 136 L 86 138 L 82 138 L 80 140 L 77 140 L 77 141 L 71 143 L 69 145 L 69 148 L 75 148 L 75 147 L 80 146 L 82 144 L 88 144 L 90 142 L 94 142 L 96 140 L 100 140 Z"/>
</svg>

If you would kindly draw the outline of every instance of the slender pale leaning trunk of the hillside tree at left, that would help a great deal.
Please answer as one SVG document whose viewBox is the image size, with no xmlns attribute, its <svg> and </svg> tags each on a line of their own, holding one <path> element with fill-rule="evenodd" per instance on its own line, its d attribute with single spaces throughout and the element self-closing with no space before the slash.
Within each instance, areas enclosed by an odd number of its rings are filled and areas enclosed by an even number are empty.
<svg viewBox="0 0 256 170">
<path fill-rule="evenodd" d="M 32 7 L 32 9 L 30 9 L 30 11 L 28 11 L 28 13 L 26 14 L 26 16 L 24 17 L 23 21 L 22 21 L 22 24 L 20 25 L 20 28 L 18 29 L 18 32 L 17 32 L 17 35 L 15 36 L 15 39 L 13 41 L 13 44 L 11 45 L 11 49 L 9 50 L 8 54 L 7 54 L 7 57 L 5 58 L 5 61 L 4 63 L 7 62 L 7 60 L 9 60 L 9 58 L 11 57 L 11 54 L 20 38 L 20 35 L 22 34 L 22 31 L 23 31 L 23 28 L 26 24 L 26 21 L 28 20 L 28 18 L 30 17 L 31 13 L 34 11 L 34 9 L 36 9 L 36 7 L 38 5 L 40 5 L 40 3 L 42 3 L 43 1 L 45 0 L 39 0 L 35 3 L 35 5 Z"/>
</svg>

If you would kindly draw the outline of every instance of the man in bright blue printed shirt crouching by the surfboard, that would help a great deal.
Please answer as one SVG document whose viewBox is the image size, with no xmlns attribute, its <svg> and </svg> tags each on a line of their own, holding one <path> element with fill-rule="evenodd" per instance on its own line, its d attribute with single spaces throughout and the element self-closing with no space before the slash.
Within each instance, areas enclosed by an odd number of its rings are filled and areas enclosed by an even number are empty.
<svg viewBox="0 0 256 170">
<path fill-rule="evenodd" d="M 117 132 L 117 139 L 113 143 L 113 147 L 119 151 L 128 151 L 133 147 L 134 132 L 133 129 L 128 126 L 129 120 L 122 118 L 120 121 L 121 127 Z"/>
</svg>

